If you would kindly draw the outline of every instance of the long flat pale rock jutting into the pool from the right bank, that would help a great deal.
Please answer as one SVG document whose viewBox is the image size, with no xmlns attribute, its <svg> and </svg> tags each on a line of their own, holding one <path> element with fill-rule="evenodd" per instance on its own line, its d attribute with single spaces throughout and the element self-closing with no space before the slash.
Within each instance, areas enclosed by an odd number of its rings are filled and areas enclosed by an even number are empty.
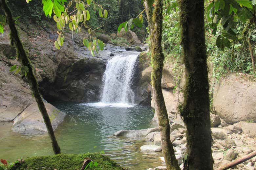
<svg viewBox="0 0 256 170">
<path fill-rule="evenodd" d="M 120 130 L 114 133 L 114 136 L 124 136 L 124 137 L 141 137 L 146 136 L 151 132 L 159 131 L 158 128 L 148 128 L 141 130 Z"/>
</svg>

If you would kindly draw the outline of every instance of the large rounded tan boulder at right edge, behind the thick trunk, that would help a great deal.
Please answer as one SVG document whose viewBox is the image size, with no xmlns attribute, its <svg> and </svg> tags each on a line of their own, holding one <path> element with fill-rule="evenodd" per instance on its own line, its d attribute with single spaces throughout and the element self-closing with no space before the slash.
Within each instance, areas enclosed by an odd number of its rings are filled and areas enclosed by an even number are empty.
<svg viewBox="0 0 256 170">
<path fill-rule="evenodd" d="M 256 122 L 256 83 L 234 74 L 214 87 L 213 109 L 227 123 Z"/>
</svg>

